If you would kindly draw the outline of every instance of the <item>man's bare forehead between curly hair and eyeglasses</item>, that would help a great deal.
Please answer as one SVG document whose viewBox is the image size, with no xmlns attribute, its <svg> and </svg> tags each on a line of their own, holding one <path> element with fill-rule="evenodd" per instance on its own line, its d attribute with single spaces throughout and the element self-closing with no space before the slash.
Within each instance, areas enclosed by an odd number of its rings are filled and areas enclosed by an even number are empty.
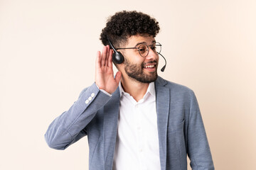
<svg viewBox="0 0 256 170">
<path fill-rule="evenodd" d="M 146 45 L 151 45 L 156 41 L 151 35 L 132 35 L 127 39 L 127 47 L 135 47 L 138 43 L 145 42 Z"/>
</svg>

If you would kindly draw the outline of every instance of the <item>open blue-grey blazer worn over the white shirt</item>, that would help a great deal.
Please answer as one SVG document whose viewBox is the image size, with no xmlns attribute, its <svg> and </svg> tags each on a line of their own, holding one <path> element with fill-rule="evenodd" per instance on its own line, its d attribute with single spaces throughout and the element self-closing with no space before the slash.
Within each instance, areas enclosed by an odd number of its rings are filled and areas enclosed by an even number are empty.
<svg viewBox="0 0 256 170">
<path fill-rule="evenodd" d="M 155 81 L 156 113 L 161 170 L 213 170 L 213 160 L 196 96 L 186 86 L 158 77 Z M 78 101 L 53 120 L 46 142 L 65 149 L 87 135 L 89 169 L 112 170 L 117 138 L 119 88 L 107 96 L 96 84 L 84 89 Z"/>
</svg>

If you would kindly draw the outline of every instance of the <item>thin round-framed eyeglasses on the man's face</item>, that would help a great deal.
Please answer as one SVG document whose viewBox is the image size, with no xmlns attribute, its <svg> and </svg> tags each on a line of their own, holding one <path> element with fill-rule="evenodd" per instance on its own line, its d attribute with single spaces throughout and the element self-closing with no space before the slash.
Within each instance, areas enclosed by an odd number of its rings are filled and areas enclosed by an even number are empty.
<svg viewBox="0 0 256 170">
<path fill-rule="evenodd" d="M 139 55 L 142 57 L 146 57 L 149 55 L 149 47 L 156 54 L 161 52 L 161 44 L 159 42 L 155 42 L 153 45 L 141 44 L 139 47 L 126 47 L 126 48 L 116 48 L 116 50 L 124 50 L 124 49 L 137 49 L 139 51 Z"/>
</svg>

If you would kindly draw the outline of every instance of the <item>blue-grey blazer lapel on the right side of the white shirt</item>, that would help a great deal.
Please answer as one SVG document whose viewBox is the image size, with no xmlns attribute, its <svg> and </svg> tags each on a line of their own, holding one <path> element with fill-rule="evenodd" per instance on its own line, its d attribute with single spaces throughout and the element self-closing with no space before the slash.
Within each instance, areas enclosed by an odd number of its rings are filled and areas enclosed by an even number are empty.
<svg viewBox="0 0 256 170">
<path fill-rule="evenodd" d="M 170 103 L 170 90 L 164 87 L 165 84 L 166 81 L 161 77 L 156 79 L 156 113 L 161 170 L 166 170 L 166 136 Z"/>
</svg>

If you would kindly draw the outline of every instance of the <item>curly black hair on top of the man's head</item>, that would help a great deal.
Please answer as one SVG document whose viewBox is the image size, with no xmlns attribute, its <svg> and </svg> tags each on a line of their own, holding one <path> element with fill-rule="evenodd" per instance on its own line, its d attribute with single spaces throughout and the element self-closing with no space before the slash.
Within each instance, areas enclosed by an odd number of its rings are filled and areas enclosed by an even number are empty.
<svg viewBox="0 0 256 170">
<path fill-rule="evenodd" d="M 127 42 L 127 38 L 132 35 L 148 34 L 153 37 L 159 33 L 159 23 L 155 18 L 137 11 L 120 11 L 111 16 L 102 29 L 100 40 L 103 45 L 109 45 L 110 39 L 114 47 Z"/>
</svg>

